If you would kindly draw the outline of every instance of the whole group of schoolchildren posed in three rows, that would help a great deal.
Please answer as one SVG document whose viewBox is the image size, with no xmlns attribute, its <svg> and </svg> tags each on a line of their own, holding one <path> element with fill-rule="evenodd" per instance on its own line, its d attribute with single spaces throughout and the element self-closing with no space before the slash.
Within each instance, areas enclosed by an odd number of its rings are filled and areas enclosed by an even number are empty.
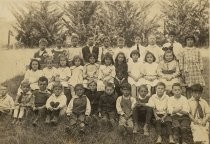
<svg viewBox="0 0 210 144">
<path fill-rule="evenodd" d="M 95 120 L 115 127 L 118 121 L 119 132 L 126 134 L 137 133 L 143 120 L 146 136 L 154 122 L 156 143 L 162 142 L 163 126 L 170 143 L 190 143 L 191 131 L 194 141 L 208 143 L 210 109 L 200 98 L 205 86 L 203 63 L 193 36 L 186 37 L 185 48 L 175 41 L 174 32 L 162 49 L 154 35 L 148 37 L 147 47 L 141 46 L 140 37 L 132 48 L 125 47 L 122 37 L 117 48 L 110 46 L 108 37 L 100 48 L 94 46 L 92 36 L 83 48 L 78 47 L 77 35 L 72 35 L 71 43 L 72 48 L 63 49 L 62 39 L 57 39 L 57 47 L 48 52 L 47 40 L 40 40 L 15 102 L 1 87 L 1 111 L 14 109 L 13 124 L 22 123 L 32 109 L 34 126 L 44 115 L 46 123 L 57 124 L 59 116 L 66 114 L 68 130 L 76 126 L 84 131 Z M 183 86 L 187 97 L 182 95 Z M 207 135 L 198 137 L 198 130 Z"/>
</svg>

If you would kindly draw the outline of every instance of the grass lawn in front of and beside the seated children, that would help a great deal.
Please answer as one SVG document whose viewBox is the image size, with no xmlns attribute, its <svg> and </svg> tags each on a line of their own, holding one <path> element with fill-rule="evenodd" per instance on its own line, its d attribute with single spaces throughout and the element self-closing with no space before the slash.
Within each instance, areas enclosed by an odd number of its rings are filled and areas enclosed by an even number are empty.
<svg viewBox="0 0 210 144">
<path fill-rule="evenodd" d="M 209 58 L 204 58 L 204 77 L 206 88 L 203 97 L 209 102 Z M 9 94 L 15 98 L 18 86 L 23 76 L 18 75 L 4 83 L 9 86 Z M 0 118 L 0 144 L 153 144 L 156 141 L 154 127 L 150 128 L 151 135 L 145 137 L 142 131 L 137 135 L 121 136 L 115 130 L 100 127 L 88 128 L 85 134 L 67 134 L 65 118 L 60 120 L 58 126 L 47 126 L 42 122 L 34 128 L 31 118 L 27 118 L 22 126 L 11 125 L 12 118 Z M 168 141 L 164 138 L 164 144 Z"/>
</svg>

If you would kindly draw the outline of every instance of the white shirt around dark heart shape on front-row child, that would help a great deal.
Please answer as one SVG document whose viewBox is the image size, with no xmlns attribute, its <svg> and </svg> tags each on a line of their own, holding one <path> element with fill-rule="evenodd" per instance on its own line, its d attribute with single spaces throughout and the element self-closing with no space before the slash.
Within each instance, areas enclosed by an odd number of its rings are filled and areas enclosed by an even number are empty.
<svg viewBox="0 0 210 144">
<path fill-rule="evenodd" d="M 55 96 L 55 94 L 52 94 L 48 99 L 47 99 L 47 102 L 46 102 L 46 108 L 49 108 L 51 107 L 50 103 L 51 102 L 59 102 L 59 105 L 58 107 L 59 108 L 63 108 L 66 106 L 66 101 L 67 101 L 67 98 L 66 96 L 61 93 L 59 96 Z"/>
</svg>

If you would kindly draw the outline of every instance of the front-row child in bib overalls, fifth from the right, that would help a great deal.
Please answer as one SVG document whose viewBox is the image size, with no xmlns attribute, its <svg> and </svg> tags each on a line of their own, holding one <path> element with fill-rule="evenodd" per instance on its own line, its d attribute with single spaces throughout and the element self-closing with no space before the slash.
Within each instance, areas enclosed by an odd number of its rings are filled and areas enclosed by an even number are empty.
<svg viewBox="0 0 210 144">
<path fill-rule="evenodd" d="M 122 85 L 123 95 L 117 98 L 116 109 L 119 114 L 119 130 L 125 135 L 133 130 L 133 108 L 136 99 L 131 97 L 131 85 L 125 83 Z"/>
</svg>

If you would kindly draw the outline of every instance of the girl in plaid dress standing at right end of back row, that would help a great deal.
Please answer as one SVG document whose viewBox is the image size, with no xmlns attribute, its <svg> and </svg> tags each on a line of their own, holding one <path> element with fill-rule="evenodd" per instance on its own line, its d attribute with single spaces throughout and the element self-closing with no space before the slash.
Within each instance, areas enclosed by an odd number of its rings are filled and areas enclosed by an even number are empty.
<svg viewBox="0 0 210 144">
<path fill-rule="evenodd" d="M 203 61 L 200 51 L 194 46 L 195 37 L 188 35 L 185 38 L 186 47 L 179 61 L 181 74 L 187 86 L 187 97 L 191 97 L 190 87 L 194 84 L 205 86 L 203 78 Z"/>
</svg>

